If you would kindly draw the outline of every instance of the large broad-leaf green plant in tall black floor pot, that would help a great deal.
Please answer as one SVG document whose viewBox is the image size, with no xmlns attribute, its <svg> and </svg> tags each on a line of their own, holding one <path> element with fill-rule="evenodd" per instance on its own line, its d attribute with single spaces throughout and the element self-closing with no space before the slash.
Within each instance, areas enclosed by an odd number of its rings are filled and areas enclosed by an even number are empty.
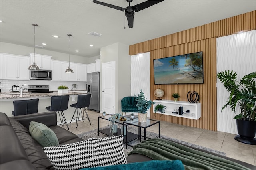
<svg viewBox="0 0 256 170">
<path fill-rule="evenodd" d="M 230 92 L 222 110 L 229 106 L 236 113 L 238 106 L 241 111 L 234 117 L 239 134 L 235 140 L 256 145 L 256 72 L 244 75 L 240 81 L 237 81 L 237 74 L 233 71 L 222 71 L 217 77 Z"/>
</svg>

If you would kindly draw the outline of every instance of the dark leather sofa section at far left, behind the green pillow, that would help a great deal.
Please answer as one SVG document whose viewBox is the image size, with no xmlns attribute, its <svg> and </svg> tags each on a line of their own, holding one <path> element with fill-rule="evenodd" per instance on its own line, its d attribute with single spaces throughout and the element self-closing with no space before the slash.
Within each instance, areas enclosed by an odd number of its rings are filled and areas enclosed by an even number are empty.
<svg viewBox="0 0 256 170">
<path fill-rule="evenodd" d="M 5 113 L 0 113 L 1 170 L 54 170 L 42 146 L 30 136 L 30 121 L 43 123 L 52 129 L 60 145 L 83 140 L 58 126 L 55 112 L 15 117 L 7 117 Z"/>
</svg>

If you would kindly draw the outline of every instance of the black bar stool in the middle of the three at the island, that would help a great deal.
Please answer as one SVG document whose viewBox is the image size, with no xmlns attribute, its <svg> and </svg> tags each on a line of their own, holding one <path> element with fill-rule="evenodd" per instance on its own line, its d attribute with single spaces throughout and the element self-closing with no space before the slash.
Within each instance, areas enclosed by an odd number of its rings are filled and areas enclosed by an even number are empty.
<svg viewBox="0 0 256 170">
<path fill-rule="evenodd" d="M 58 112 L 61 125 L 63 126 L 65 123 L 67 125 L 67 127 L 68 127 L 68 123 L 66 121 L 63 111 L 68 109 L 68 101 L 69 101 L 69 95 L 52 96 L 51 97 L 51 105 L 45 108 L 48 111 Z M 69 128 L 68 128 L 68 130 L 69 130 Z"/>
</svg>

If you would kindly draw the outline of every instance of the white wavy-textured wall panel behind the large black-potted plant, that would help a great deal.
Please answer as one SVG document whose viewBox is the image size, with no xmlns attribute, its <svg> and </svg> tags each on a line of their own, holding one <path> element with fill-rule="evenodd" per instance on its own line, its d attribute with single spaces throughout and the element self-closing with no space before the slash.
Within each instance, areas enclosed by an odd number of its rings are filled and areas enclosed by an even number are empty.
<svg viewBox="0 0 256 170">
<path fill-rule="evenodd" d="M 233 70 L 238 80 L 244 75 L 256 71 L 256 30 L 217 38 L 217 73 Z M 238 134 L 234 112 L 226 104 L 229 93 L 217 79 L 217 130 Z M 239 114 L 239 110 L 237 110 Z"/>
</svg>

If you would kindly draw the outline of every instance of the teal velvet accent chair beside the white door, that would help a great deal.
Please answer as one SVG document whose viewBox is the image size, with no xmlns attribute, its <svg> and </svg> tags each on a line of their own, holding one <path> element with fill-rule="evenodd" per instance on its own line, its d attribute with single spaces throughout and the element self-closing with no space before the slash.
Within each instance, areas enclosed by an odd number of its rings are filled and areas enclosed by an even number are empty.
<svg viewBox="0 0 256 170">
<path fill-rule="evenodd" d="M 121 100 L 121 109 L 122 115 L 126 114 L 126 112 L 138 112 L 138 107 L 136 106 L 136 97 L 135 96 L 127 96 Z"/>
</svg>

